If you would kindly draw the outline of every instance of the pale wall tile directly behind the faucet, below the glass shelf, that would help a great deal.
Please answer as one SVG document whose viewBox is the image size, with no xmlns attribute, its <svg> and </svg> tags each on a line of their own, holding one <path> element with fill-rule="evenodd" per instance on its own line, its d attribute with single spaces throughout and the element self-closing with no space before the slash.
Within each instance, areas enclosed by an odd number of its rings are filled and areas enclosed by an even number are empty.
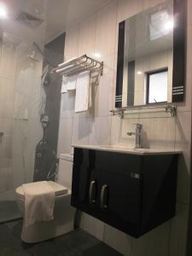
<svg viewBox="0 0 192 256">
<path fill-rule="evenodd" d="M 142 114 L 141 114 L 142 116 Z M 136 115 L 137 117 L 137 115 Z M 129 118 L 120 119 L 112 116 L 111 144 L 119 144 L 132 148 L 135 146 L 135 136 L 129 137 L 127 131 L 135 131 L 135 124 L 143 124 L 144 148 L 172 148 L 175 145 L 174 118 Z"/>
</svg>

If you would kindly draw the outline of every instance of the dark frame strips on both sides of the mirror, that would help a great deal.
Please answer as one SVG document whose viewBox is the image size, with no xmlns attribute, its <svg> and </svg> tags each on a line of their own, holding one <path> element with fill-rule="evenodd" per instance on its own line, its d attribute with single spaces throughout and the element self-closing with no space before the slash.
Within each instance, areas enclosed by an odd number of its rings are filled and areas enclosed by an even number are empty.
<svg viewBox="0 0 192 256">
<path fill-rule="evenodd" d="M 173 71 L 172 71 L 172 102 L 183 102 L 185 96 L 185 54 L 186 54 L 186 0 L 173 0 Z M 119 23 L 118 59 L 115 108 L 122 108 L 122 91 L 124 76 L 125 21 Z M 168 102 L 167 102 L 168 103 Z M 169 102 L 170 103 L 170 102 Z M 160 105 L 162 103 L 153 103 Z M 165 104 L 165 102 L 164 102 Z M 151 106 L 152 104 L 150 104 Z M 148 106 L 140 105 L 140 106 Z M 139 107 L 126 106 L 127 108 Z"/>
</svg>

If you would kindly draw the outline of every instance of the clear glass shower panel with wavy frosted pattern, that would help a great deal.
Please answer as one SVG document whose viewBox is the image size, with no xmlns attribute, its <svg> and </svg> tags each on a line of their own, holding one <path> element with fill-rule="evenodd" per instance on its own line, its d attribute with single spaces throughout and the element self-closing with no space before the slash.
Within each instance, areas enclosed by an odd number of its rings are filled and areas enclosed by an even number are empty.
<svg viewBox="0 0 192 256">
<path fill-rule="evenodd" d="M 15 188 L 32 182 L 45 108 L 46 1 L 10 2 L 7 19 L 0 20 L 0 223 L 20 218 Z"/>
</svg>

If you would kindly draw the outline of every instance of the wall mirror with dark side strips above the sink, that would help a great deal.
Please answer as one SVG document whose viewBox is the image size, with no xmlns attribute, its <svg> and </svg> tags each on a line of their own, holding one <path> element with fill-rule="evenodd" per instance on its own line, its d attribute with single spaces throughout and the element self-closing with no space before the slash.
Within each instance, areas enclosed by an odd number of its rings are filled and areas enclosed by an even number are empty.
<svg viewBox="0 0 192 256">
<path fill-rule="evenodd" d="M 115 107 L 182 102 L 185 0 L 167 0 L 119 23 Z"/>
</svg>

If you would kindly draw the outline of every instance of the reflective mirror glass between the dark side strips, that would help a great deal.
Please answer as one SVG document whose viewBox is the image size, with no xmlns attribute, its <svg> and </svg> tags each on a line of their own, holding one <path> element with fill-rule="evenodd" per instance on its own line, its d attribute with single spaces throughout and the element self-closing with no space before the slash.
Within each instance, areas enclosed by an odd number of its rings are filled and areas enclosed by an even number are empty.
<svg viewBox="0 0 192 256">
<path fill-rule="evenodd" d="M 122 106 L 172 102 L 173 3 L 125 20 Z"/>
</svg>

